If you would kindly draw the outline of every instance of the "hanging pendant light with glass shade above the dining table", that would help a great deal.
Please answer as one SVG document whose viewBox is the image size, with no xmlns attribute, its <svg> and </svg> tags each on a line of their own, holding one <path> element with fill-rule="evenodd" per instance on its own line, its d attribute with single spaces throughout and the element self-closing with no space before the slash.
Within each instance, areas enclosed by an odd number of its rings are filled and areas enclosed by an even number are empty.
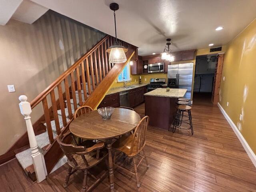
<svg viewBox="0 0 256 192">
<path fill-rule="evenodd" d="M 116 32 L 116 10 L 119 9 L 119 5 L 117 3 L 111 3 L 110 9 L 114 11 L 114 20 L 115 20 L 115 32 Z M 128 49 L 121 45 L 121 42 L 119 42 L 116 38 L 114 44 L 110 46 L 106 52 L 109 54 L 109 62 L 110 63 L 124 63 L 127 61 L 125 52 L 127 52 Z"/>
</svg>

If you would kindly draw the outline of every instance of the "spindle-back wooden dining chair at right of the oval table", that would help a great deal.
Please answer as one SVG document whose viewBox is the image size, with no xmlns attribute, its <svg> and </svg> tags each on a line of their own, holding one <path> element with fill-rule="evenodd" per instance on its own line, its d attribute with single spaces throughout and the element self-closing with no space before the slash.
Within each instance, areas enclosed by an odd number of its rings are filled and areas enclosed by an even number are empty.
<svg viewBox="0 0 256 192">
<path fill-rule="evenodd" d="M 137 168 L 143 159 L 145 159 L 146 165 L 149 168 L 148 160 L 145 156 L 144 149 L 143 149 L 146 144 L 145 136 L 146 136 L 146 132 L 147 132 L 148 121 L 149 121 L 149 117 L 145 116 L 144 118 L 142 118 L 142 120 L 140 120 L 140 123 L 137 125 L 133 135 L 129 135 L 129 136 L 124 135 L 119 140 L 117 140 L 116 142 L 114 142 L 112 144 L 113 149 L 126 154 L 129 158 L 132 158 L 133 163 L 134 163 L 134 172 L 116 164 L 116 152 L 114 153 L 114 159 L 113 159 L 114 167 L 119 167 L 122 170 L 126 170 L 126 171 L 134 174 L 136 176 L 136 181 L 137 181 L 138 187 L 140 187 L 140 182 L 139 182 L 139 178 L 138 178 Z M 141 151 L 143 152 L 143 156 L 140 155 Z M 136 164 L 135 159 L 134 159 L 134 157 L 136 155 L 141 157 L 141 160 L 138 164 Z"/>
</svg>

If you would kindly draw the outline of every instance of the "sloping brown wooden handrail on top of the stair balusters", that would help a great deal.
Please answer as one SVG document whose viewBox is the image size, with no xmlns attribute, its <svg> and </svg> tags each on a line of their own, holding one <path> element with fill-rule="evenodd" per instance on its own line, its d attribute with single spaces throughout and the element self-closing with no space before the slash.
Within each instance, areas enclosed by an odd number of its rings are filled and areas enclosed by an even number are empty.
<svg viewBox="0 0 256 192">
<path fill-rule="evenodd" d="M 108 39 L 110 35 L 106 35 L 102 38 L 95 46 L 93 46 L 88 52 L 86 52 L 80 59 L 78 59 L 70 68 L 68 68 L 64 73 L 62 73 L 52 84 L 50 84 L 45 90 L 43 90 L 36 98 L 34 98 L 31 102 L 31 108 L 33 109 L 37 104 L 39 104 L 43 98 L 45 98 L 58 84 L 60 84 L 71 72 L 73 72 L 76 67 L 84 61 L 90 54 L 92 54 L 106 39 Z"/>
</svg>

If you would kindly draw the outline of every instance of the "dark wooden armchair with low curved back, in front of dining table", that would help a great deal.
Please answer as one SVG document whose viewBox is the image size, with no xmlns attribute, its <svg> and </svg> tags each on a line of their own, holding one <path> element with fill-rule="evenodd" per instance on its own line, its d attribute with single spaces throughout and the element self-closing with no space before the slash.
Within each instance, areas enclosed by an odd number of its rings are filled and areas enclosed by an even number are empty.
<svg viewBox="0 0 256 192">
<path fill-rule="evenodd" d="M 103 142 L 96 143 L 88 148 L 86 148 L 86 146 L 74 146 L 73 144 L 67 144 L 66 142 L 70 140 L 68 139 L 69 134 L 70 133 L 67 133 L 56 137 L 60 148 L 68 158 L 69 168 L 63 187 L 66 188 L 68 186 L 70 175 L 72 175 L 77 170 L 82 170 L 84 172 L 82 192 L 88 192 L 92 190 L 92 188 L 98 184 L 98 182 L 100 182 L 100 180 L 102 180 L 102 178 L 104 178 L 104 176 L 108 173 L 105 172 L 102 174 L 102 176 L 100 176 L 100 178 L 96 178 L 96 176 L 88 172 L 88 169 L 96 166 L 99 162 L 104 160 L 104 158 L 108 155 L 108 152 L 106 150 L 102 150 L 100 152 L 100 156 L 96 157 L 96 151 L 104 147 Z M 96 180 L 91 186 L 87 186 L 88 174 Z"/>
</svg>

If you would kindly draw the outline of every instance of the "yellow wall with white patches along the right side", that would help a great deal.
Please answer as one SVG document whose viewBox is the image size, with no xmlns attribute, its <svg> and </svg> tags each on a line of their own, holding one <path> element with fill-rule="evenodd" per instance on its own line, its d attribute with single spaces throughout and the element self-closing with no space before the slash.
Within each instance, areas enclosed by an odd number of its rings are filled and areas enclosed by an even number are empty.
<svg viewBox="0 0 256 192">
<path fill-rule="evenodd" d="M 219 102 L 256 154 L 256 20 L 228 46 Z M 226 103 L 229 102 L 229 106 Z M 239 116 L 242 114 L 242 121 Z"/>
</svg>

